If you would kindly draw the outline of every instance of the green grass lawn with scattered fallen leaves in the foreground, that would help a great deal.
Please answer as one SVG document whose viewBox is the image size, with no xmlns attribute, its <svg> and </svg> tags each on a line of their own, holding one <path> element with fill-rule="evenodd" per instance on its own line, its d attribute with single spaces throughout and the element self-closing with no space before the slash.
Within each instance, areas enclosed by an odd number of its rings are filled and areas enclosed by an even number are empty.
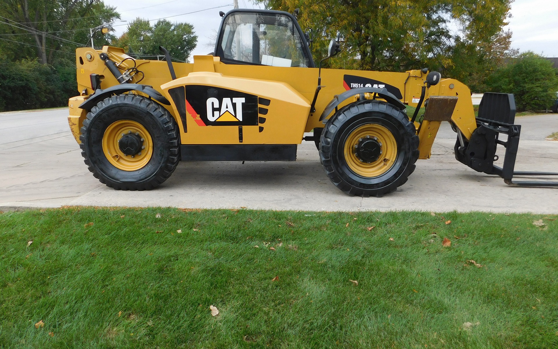
<svg viewBox="0 0 558 349">
<path fill-rule="evenodd" d="M 556 218 L 6 212 L 0 347 L 555 348 Z"/>
</svg>

